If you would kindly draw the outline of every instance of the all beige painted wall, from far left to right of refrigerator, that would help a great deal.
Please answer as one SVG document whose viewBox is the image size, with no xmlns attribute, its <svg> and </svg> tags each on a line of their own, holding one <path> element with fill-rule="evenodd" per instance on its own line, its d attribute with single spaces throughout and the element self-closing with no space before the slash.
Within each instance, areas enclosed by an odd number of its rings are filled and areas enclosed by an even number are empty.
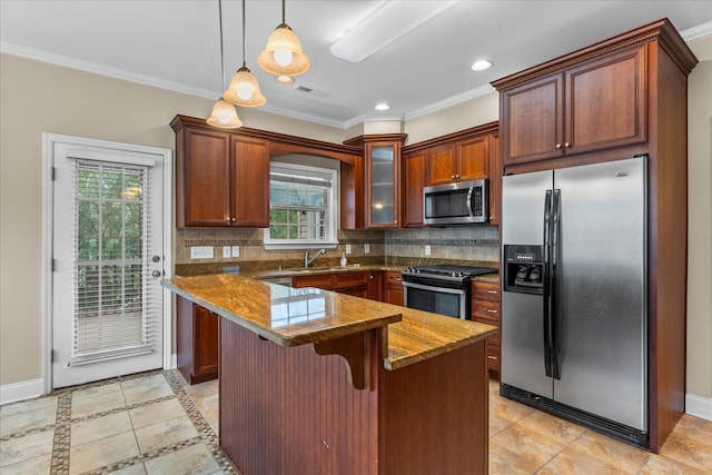
<svg viewBox="0 0 712 475">
<path fill-rule="evenodd" d="M 712 37 L 691 47 L 688 392 L 712 397 Z M 108 92 L 107 92 L 108 91 Z M 41 377 L 41 132 L 172 148 L 176 113 L 211 101 L 0 56 L 0 385 Z M 102 112 L 96 113 L 95 108 Z M 497 120 L 497 95 L 405 125 L 408 142 Z M 344 131 L 240 109 L 249 127 L 340 142 Z"/>
</svg>

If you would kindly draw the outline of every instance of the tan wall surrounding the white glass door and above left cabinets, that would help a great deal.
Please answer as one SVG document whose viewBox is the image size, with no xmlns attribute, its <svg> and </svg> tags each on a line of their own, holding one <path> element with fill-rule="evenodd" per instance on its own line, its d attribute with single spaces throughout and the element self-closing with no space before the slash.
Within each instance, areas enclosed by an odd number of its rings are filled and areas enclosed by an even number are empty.
<svg viewBox="0 0 712 475">
<path fill-rule="evenodd" d="M 41 377 L 41 133 L 174 148 L 168 122 L 212 101 L 0 56 L 0 385 Z M 247 127 L 342 142 L 344 131 L 259 110 Z"/>
</svg>

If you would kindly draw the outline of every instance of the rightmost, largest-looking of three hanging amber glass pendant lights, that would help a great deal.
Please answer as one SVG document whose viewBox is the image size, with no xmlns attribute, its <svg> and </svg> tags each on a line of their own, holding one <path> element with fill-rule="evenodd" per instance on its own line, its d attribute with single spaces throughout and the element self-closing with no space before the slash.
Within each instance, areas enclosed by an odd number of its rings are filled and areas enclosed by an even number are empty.
<svg viewBox="0 0 712 475">
<path fill-rule="evenodd" d="M 265 71 L 275 76 L 299 76 L 309 69 L 309 58 L 301 51 L 299 38 L 285 22 L 285 0 L 281 0 L 281 23 L 269 36 L 257 62 Z"/>
</svg>

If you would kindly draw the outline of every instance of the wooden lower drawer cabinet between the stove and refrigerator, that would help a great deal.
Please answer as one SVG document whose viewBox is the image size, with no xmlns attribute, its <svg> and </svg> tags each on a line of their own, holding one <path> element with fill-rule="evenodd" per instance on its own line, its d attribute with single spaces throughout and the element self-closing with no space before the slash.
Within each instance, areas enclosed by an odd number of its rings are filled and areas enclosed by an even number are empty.
<svg viewBox="0 0 712 475">
<path fill-rule="evenodd" d="M 500 301 L 500 284 L 482 280 L 472 283 L 472 319 L 481 324 L 494 325 L 500 331 L 487 338 L 487 369 L 490 374 L 500 377 L 500 333 L 502 331 L 502 304 Z"/>
</svg>

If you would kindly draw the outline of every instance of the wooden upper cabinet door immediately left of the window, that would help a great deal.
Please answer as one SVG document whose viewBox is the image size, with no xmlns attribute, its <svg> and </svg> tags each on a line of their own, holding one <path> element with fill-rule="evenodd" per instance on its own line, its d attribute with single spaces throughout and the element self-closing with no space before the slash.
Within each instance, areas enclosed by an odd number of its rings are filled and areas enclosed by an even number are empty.
<svg viewBox="0 0 712 475">
<path fill-rule="evenodd" d="M 267 142 L 233 137 L 231 226 L 269 227 L 269 150 Z"/>
</svg>

